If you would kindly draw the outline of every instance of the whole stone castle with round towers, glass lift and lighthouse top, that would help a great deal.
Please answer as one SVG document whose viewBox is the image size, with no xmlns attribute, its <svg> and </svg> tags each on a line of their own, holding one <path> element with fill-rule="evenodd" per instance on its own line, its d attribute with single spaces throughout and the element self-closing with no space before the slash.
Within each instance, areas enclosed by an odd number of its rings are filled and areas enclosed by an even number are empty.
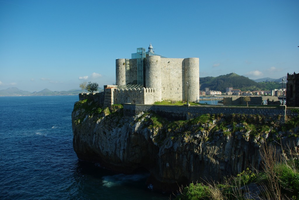
<svg viewBox="0 0 299 200">
<path fill-rule="evenodd" d="M 187 84 L 188 83 L 188 84 Z M 188 88 L 188 94 L 187 94 Z M 199 99 L 199 58 L 166 58 L 137 48 L 131 59 L 116 59 L 116 85 L 104 86 L 104 106 Z"/>
</svg>

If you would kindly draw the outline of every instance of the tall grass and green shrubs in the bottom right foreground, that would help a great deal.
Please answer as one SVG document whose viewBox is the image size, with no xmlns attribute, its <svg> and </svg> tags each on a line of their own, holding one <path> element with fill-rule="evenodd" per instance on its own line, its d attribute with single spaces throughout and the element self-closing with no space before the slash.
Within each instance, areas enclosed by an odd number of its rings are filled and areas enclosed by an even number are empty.
<svg viewBox="0 0 299 200">
<path fill-rule="evenodd" d="M 258 199 L 299 200 L 299 156 L 297 149 L 283 149 L 266 143 L 260 148 L 263 170 L 257 174 L 249 168 L 236 177 L 225 178 L 222 184 L 211 182 L 190 184 L 180 188 L 176 200 L 190 199 Z M 251 193 L 248 184 L 260 189 Z M 198 191 L 197 191 L 198 190 Z"/>
</svg>

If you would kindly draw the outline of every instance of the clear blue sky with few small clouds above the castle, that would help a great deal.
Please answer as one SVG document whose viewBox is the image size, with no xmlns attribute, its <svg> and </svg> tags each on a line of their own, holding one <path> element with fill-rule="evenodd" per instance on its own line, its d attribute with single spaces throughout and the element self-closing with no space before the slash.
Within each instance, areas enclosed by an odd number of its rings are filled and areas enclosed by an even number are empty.
<svg viewBox="0 0 299 200">
<path fill-rule="evenodd" d="M 148 48 L 199 57 L 199 76 L 299 73 L 299 1 L 0 0 L 0 90 L 115 83 L 115 59 Z"/>
</svg>

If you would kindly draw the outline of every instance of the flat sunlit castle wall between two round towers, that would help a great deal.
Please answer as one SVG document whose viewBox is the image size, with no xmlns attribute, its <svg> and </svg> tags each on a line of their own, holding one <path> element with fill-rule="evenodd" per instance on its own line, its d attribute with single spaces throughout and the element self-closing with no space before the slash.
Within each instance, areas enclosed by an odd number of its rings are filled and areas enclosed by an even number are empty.
<svg viewBox="0 0 299 200">
<path fill-rule="evenodd" d="M 183 100 L 184 64 L 181 58 L 161 58 L 162 100 Z"/>
</svg>

